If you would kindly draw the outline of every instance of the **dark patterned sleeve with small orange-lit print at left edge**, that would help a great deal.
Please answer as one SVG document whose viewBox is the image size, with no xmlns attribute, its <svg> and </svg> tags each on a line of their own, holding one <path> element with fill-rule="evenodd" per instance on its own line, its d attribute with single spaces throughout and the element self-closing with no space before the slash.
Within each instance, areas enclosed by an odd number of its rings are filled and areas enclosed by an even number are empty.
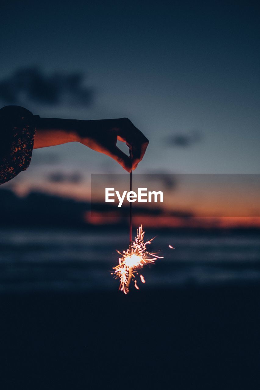
<svg viewBox="0 0 260 390">
<path fill-rule="evenodd" d="M 20 106 L 0 109 L 0 184 L 30 165 L 37 117 Z"/>
</svg>

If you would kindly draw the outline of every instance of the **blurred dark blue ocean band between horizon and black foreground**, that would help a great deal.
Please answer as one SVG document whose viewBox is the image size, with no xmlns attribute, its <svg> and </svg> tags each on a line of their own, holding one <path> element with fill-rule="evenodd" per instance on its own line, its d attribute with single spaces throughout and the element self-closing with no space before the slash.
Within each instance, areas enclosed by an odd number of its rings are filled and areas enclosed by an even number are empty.
<svg viewBox="0 0 260 390">
<path fill-rule="evenodd" d="M 146 284 L 137 280 L 142 289 L 260 281 L 255 232 L 157 233 L 151 251 L 164 259 L 143 268 Z M 155 234 L 148 229 L 146 238 Z M 0 292 L 117 290 L 110 273 L 116 249 L 127 246 L 128 231 L 122 230 L 2 229 Z"/>
</svg>

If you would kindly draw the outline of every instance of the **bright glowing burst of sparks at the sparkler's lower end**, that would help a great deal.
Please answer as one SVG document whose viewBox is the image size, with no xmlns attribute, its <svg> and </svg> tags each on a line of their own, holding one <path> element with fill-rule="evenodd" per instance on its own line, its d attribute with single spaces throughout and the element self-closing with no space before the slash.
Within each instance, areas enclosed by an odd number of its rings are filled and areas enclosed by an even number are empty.
<svg viewBox="0 0 260 390">
<path fill-rule="evenodd" d="M 120 279 L 119 289 L 125 294 L 129 293 L 129 285 L 131 280 L 134 280 L 134 285 L 137 290 L 139 287 L 137 281 L 134 279 L 135 275 L 138 275 L 138 271 L 146 264 L 154 263 L 157 259 L 163 259 L 163 257 L 157 256 L 155 253 L 148 252 L 146 246 L 151 244 L 153 238 L 144 242 L 144 231 L 142 225 L 137 229 L 137 236 L 135 241 L 129 246 L 128 250 L 124 250 L 123 253 L 118 252 L 119 264 L 114 267 L 114 276 Z M 144 277 L 140 275 L 141 282 L 145 283 Z"/>
</svg>

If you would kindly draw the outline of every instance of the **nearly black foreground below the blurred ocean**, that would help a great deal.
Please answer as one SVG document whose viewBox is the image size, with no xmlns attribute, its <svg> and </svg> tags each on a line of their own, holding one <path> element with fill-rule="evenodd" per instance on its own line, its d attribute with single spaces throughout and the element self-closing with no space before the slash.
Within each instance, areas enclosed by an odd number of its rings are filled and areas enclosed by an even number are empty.
<svg viewBox="0 0 260 390">
<path fill-rule="evenodd" d="M 260 388 L 259 286 L 4 295 L 1 389 Z"/>
</svg>

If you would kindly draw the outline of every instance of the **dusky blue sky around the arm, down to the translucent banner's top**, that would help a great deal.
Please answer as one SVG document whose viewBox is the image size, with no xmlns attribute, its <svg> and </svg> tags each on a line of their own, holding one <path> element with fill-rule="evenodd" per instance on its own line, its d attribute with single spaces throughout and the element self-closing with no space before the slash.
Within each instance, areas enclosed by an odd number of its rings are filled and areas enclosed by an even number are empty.
<svg viewBox="0 0 260 390">
<path fill-rule="evenodd" d="M 37 68 L 61 97 L 25 88 L 16 104 L 42 117 L 128 117 L 150 140 L 137 173 L 259 173 L 257 2 L 4 1 L 0 18 L 2 91 Z M 73 93 L 61 87 L 69 74 L 83 77 Z M 10 104 L 4 92 L 0 102 Z M 4 186 L 85 198 L 91 173 L 121 170 L 73 143 L 35 150 Z"/>
</svg>

